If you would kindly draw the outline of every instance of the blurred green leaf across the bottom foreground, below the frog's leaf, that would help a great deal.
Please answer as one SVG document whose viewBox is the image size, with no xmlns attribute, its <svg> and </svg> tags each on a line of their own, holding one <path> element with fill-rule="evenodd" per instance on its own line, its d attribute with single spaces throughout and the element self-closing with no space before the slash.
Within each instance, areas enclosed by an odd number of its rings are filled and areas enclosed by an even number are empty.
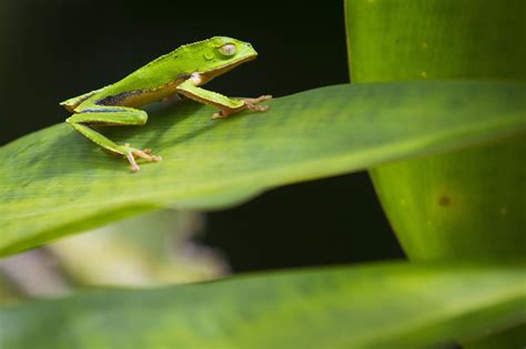
<svg viewBox="0 0 526 349">
<path fill-rule="evenodd" d="M 0 311 L 0 347 L 422 348 L 526 321 L 520 267 L 406 263 L 95 290 Z"/>
</svg>

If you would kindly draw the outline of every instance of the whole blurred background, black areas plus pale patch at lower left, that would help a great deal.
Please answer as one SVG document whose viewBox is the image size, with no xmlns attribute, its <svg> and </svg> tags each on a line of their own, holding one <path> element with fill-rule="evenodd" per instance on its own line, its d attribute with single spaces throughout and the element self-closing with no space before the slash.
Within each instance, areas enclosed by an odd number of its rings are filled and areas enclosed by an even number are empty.
<svg viewBox="0 0 526 349">
<path fill-rule="evenodd" d="M 60 101 L 213 35 L 249 41 L 260 55 L 209 90 L 279 97 L 348 82 L 342 1 L 2 0 L 0 145 L 63 122 Z M 0 259 L 0 298 L 392 258 L 404 255 L 362 172 L 231 209 L 132 218 Z"/>
</svg>

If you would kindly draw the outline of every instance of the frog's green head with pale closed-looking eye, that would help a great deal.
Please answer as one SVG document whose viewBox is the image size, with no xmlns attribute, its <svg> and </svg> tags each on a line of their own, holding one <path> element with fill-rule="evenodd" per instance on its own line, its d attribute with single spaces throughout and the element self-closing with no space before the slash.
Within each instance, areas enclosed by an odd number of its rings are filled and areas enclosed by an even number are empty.
<svg viewBox="0 0 526 349">
<path fill-rule="evenodd" d="M 202 54 L 198 55 L 198 72 L 203 78 L 203 83 L 257 57 L 249 42 L 227 37 L 214 37 L 202 43 L 199 50 Z"/>
</svg>

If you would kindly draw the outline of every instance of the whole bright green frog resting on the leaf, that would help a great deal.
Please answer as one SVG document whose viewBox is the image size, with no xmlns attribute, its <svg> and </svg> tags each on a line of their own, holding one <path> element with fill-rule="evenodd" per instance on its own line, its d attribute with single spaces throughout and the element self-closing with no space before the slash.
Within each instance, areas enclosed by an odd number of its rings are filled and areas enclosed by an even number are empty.
<svg viewBox="0 0 526 349">
<path fill-rule="evenodd" d="M 182 45 L 140 68 L 121 81 L 62 103 L 73 115 L 67 120 L 77 131 L 111 153 L 125 156 L 132 171 L 139 171 L 135 157 L 160 161 L 149 150 L 136 150 L 129 144 L 118 145 L 90 125 L 143 125 L 148 115 L 135 107 L 178 94 L 216 106 L 221 112 L 213 117 L 226 117 L 244 109 L 263 111 L 257 103 L 271 99 L 230 99 L 199 88 L 218 75 L 255 59 L 257 53 L 250 43 L 226 37 Z"/>
</svg>

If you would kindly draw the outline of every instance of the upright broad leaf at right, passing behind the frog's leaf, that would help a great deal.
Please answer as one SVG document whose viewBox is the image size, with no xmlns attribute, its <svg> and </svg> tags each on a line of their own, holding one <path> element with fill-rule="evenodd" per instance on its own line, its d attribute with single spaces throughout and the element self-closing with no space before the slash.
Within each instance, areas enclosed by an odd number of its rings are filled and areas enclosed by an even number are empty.
<svg viewBox="0 0 526 349">
<path fill-rule="evenodd" d="M 524 0 L 346 0 L 345 9 L 353 82 L 526 80 Z M 522 135 L 372 168 L 409 258 L 525 258 L 525 152 Z"/>
</svg>

